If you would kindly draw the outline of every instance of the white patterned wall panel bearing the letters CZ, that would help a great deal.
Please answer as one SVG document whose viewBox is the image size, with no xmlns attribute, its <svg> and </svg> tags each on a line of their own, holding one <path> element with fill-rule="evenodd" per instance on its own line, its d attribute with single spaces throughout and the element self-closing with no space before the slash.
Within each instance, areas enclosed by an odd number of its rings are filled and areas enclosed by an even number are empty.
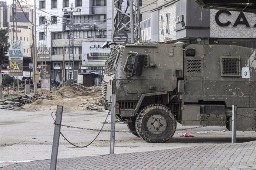
<svg viewBox="0 0 256 170">
<path fill-rule="evenodd" d="M 170 22 L 169 22 L 170 33 L 169 34 L 166 34 L 167 18 L 165 17 L 165 14 L 167 13 L 170 13 Z M 161 16 L 162 15 L 164 17 L 164 23 L 163 23 L 164 35 L 161 34 Z M 175 16 L 176 16 L 175 3 L 167 7 L 163 7 L 162 9 L 159 10 L 159 41 L 160 42 L 163 42 L 165 37 L 171 38 L 171 40 L 176 40 L 176 32 L 174 31 L 176 26 Z"/>
</svg>

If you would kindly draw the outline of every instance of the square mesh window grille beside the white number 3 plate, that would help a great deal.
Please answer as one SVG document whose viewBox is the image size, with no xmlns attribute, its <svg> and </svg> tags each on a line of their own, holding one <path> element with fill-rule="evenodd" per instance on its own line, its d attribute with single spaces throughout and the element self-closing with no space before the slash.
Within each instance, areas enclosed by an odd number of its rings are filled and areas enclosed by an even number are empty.
<svg viewBox="0 0 256 170">
<path fill-rule="evenodd" d="M 240 57 L 220 57 L 221 76 L 240 76 Z"/>
</svg>

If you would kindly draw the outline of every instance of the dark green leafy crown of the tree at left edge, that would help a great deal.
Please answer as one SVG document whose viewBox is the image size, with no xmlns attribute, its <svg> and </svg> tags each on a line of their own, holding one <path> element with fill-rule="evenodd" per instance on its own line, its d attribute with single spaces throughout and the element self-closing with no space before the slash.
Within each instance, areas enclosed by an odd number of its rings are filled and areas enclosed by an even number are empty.
<svg viewBox="0 0 256 170">
<path fill-rule="evenodd" d="M 3 58 L 9 51 L 8 28 L 0 28 L 0 65 L 3 64 Z"/>
</svg>

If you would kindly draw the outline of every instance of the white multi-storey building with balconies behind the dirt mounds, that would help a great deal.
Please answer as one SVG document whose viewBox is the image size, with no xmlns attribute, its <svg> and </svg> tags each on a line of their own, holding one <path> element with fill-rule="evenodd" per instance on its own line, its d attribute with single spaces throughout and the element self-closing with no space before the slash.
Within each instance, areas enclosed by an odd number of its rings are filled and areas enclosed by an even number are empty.
<svg viewBox="0 0 256 170">
<path fill-rule="evenodd" d="M 86 54 L 90 52 L 84 54 L 82 46 L 84 43 L 85 46 L 88 46 L 86 42 L 101 44 L 106 41 L 106 0 L 38 0 L 36 7 L 40 9 L 37 10 L 36 16 L 36 25 L 39 25 L 37 27 L 37 61 L 44 61 L 44 63 L 46 61 L 46 64 L 52 66 L 52 80 L 59 77 L 59 81 L 62 81 L 64 76 L 67 80 L 69 75 L 69 79 L 74 78 L 76 81 L 79 72 L 99 72 L 103 69 L 104 62 L 99 62 L 98 65 L 86 65 L 85 61 L 88 60 Z M 71 22 L 70 11 L 73 11 L 73 21 Z M 71 64 L 68 65 L 73 60 L 73 55 L 69 55 L 69 32 L 72 29 L 74 68 Z M 44 44 L 45 49 L 43 49 Z M 97 57 L 101 57 L 100 54 L 94 55 L 89 59 L 95 60 Z M 62 75 L 63 67 L 65 75 Z M 72 69 L 74 69 L 74 74 Z"/>
</svg>

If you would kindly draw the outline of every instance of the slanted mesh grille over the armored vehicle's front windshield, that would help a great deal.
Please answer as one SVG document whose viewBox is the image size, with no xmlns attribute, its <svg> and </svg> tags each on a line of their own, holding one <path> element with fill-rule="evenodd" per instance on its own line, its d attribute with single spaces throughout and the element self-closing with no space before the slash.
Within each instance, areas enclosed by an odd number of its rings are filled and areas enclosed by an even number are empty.
<svg viewBox="0 0 256 170">
<path fill-rule="evenodd" d="M 118 63 L 120 52 L 116 48 L 113 48 L 109 53 L 108 59 L 105 63 L 105 74 L 114 74 L 115 66 Z"/>
</svg>

